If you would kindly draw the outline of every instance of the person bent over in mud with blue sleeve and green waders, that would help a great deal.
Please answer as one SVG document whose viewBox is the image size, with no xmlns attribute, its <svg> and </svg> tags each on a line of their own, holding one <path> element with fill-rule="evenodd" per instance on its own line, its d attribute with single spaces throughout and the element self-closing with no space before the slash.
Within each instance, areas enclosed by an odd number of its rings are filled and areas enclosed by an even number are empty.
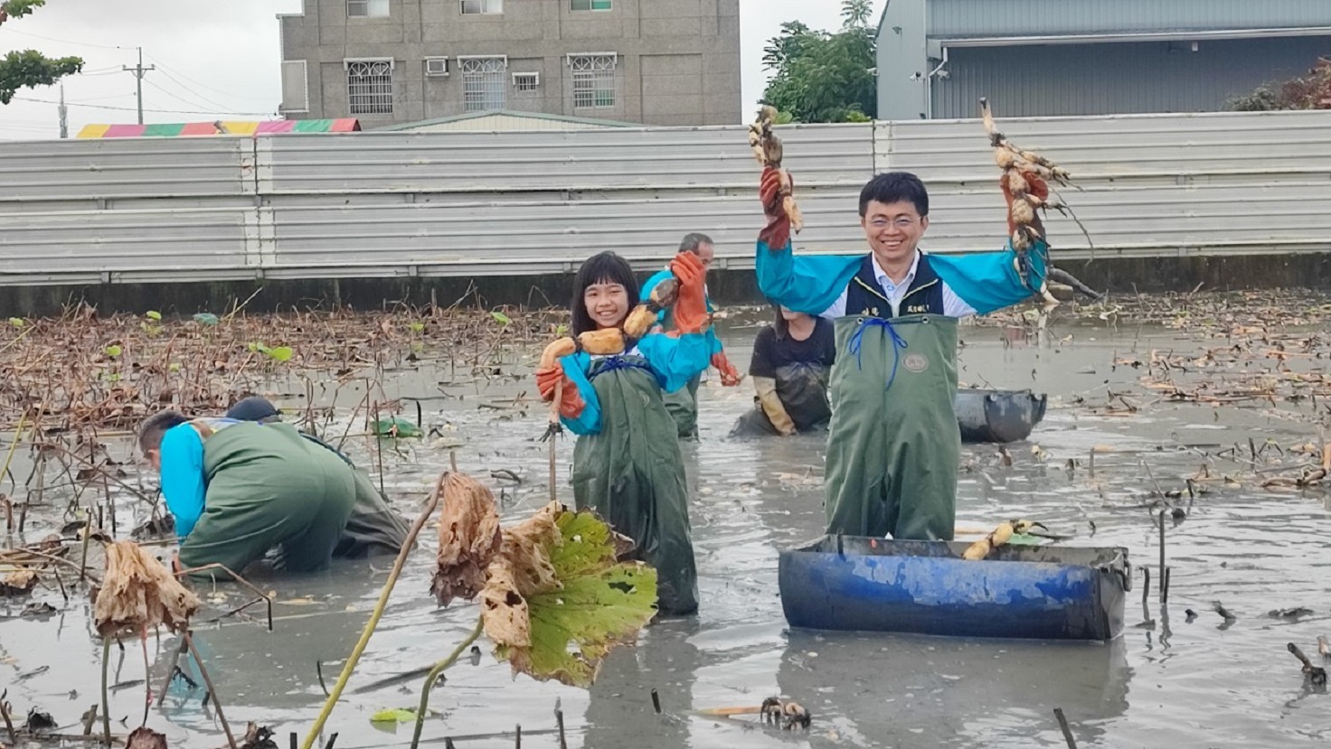
<svg viewBox="0 0 1331 749">
<path fill-rule="evenodd" d="M 278 547 L 280 569 L 321 569 L 355 504 L 353 468 L 290 424 L 162 411 L 140 427 L 138 447 L 161 474 L 185 568 L 240 573 Z"/>
</svg>

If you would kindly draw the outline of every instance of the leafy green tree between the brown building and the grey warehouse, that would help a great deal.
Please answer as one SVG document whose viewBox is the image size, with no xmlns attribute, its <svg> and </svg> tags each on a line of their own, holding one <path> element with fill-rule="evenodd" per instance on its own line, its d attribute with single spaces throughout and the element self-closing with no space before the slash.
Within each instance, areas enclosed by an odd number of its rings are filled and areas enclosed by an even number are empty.
<svg viewBox="0 0 1331 749">
<path fill-rule="evenodd" d="M 868 0 L 847 0 L 847 4 Z M 864 17 L 857 11 L 855 19 Z M 763 51 L 763 64 L 776 71 L 763 98 L 796 122 L 860 122 L 877 114 L 874 36 L 866 25 L 847 25 L 837 33 L 811 31 L 799 21 L 781 24 L 781 33 Z M 855 21 L 858 23 L 858 21 Z"/>
</svg>

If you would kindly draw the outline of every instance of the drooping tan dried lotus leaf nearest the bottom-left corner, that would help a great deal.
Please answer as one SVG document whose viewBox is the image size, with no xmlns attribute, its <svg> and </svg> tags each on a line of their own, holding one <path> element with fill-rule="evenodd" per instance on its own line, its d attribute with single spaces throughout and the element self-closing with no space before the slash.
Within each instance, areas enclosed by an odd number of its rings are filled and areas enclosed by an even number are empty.
<svg viewBox="0 0 1331 749">
<path fill-rule="evenodd" d="M 138 544 L 106 547 L 106 579 L 93 607 L 98 633 L 144 632 L 158 625 L 182 632 L 197 609 L 198 597 Z"/>
</svg>

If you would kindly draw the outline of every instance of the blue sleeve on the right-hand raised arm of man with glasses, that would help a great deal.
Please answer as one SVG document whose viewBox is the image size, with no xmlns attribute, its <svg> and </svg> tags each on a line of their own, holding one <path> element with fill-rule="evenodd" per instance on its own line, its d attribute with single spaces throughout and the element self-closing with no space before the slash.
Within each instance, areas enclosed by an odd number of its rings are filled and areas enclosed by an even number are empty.
<svg viewBox="0 0 1331 749">
<path fill-rule="evenodd" d="M 964 255 L 929 255 L 929 263 L 938 278 L 978 314 L 1010 307 L 1040 293 L 1045 279 L 1049 246 L 1044 242 L 1026 251 L 1030 263 L 1028 286 L 1021 281 L 1014 261 L 1017 251 L 1008 247 L 997 253 L 969 253 Z"/>
</svg>

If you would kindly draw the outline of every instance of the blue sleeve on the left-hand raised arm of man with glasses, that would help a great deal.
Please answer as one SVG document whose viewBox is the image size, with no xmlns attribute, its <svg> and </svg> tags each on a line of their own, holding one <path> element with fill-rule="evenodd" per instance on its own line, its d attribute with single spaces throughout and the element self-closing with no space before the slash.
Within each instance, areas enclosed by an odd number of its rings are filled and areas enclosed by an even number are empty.
<svg viewBox="0 0 1331 749">
<path fill-rule="evenodd" d="M 795 257 L 791 242 L 773 250 L 759 239 L 755 259 L 757 287 L 768 299 L 817 317 L 841 297 L 864 255 Z"/>
</svg>

